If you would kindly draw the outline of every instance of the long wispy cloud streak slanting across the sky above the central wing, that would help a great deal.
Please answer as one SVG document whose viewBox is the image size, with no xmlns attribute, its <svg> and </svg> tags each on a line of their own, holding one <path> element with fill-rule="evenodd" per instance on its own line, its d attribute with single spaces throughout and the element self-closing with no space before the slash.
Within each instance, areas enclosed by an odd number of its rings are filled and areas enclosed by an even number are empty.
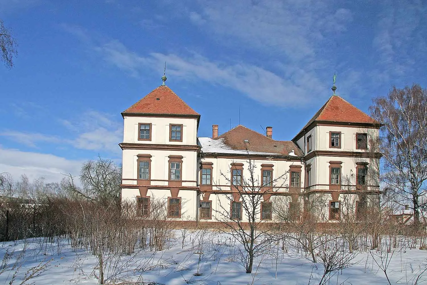
<svg viewBox="0 0 427 285">
<path fill-rule="evenodd" d="M 248 97 L 270 105 L 287 107 L 308 103 L 310 94 L 322 92 L 323 84 L 313 72 L 287 66 L 287 79 L 266 69 L 245 63 L 214 62 L 198 54 L 180 57 L 175 54 L 151 53 L 146 57 L 128 50 L 119 41 L 95 48 L 107 62 L 137 75 L 146 68 L 155 70 L 167 62 L 168 74 L 183 80 L 205 80 L 233 88 Z M 324 89 L 323 89 L 324 90 Z"/>
</svg>

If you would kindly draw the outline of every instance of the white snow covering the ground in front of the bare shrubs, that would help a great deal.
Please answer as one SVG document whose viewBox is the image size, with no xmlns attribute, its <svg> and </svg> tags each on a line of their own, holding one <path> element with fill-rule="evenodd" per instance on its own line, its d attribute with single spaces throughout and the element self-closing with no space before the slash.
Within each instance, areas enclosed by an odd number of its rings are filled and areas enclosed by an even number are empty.
<svg viewBox="0 0 427 285">
<path fill-rule="evenodd" d="M 306 257 L 305 253 L 301 250 L 297 252 L 292 246 L 285 247 L 285 251 L 275 247 L 272 252 L 265 252 L 255 260 L 253 273 L 246 274 L 240 262 L 240 244 L 231 235 L 214 230 L 197 230 L 188 235 L 184 249 L 181 243 L 181 233 L 176 230 L 166 250 L 152 252 L 149 249 L 136 249 L 133 256 L 110 256 L 110 259 L 105 256 L 105 278 L 117 283 L 139 280 L 169 285 L 186 284 L 185 280 L 187 284 L 207 285 L 307 285 L 319 284 L 323 273 L 322 264 L 311 262 L 309 255 Z M 12 252 L 12 257 L 8 259 L 7 256 Z M 18 256 L 22 256 L 22 259 L 15 262 Z M 426 267 L 426 258 L 426 250 L 395 249 L 387 271 L 391 283 L 413 284 L 413 277 Z M 98 284 L 97 259 L 88 250 L 73 251 L 65 238 L 47 244 L 41 238 L 3 242 L 0 243 L 0 259 L 3 260 L 0 284 L 9 284 L 16 269 L 19 269 L 18 276 L 12 284 L 20 284 L 27 270 L 41 261 L 50 261 L 47 270 L 30 279 L 27 284 Z M 357 264 L 335 274 L 330 284 L 388 284 L 384 273 L 368 253 L 357 253 L 354 261 Z M 143 270 L 135 270 L 137 267 Z M 195 276 L 197 272 L 201 276 Z M 426 278 L 421 280 L 418 284 L 427 284 Z"/>
</svg>

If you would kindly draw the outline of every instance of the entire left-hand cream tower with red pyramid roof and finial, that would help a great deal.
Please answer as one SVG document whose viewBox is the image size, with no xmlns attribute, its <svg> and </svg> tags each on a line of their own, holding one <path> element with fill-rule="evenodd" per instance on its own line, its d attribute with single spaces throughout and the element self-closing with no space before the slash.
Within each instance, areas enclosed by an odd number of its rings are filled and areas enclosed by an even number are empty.
<svg viewBox="0 0 427 285">
<path fill-rule="evenodd" d="M 148 216 L 153 199 L 168 216 L 195 216 L 200 115 L 163 84 L 122 112 L 124 120 L 121 199 L 137 200 Z"/>
</svg>

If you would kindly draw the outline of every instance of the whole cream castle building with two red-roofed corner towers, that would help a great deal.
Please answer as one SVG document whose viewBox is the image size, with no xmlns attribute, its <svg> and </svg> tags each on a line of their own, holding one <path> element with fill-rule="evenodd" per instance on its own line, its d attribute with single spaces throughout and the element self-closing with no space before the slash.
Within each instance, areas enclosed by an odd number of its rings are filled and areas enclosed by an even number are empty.
<svg viewBox="0 0 427 285">
<path fill-rule="evenodd" d="M 122 112 L 121 199 L 149 216 L 154 200 L 171 220 L 248 219 L 245 197 L 258 197 L 257 220 L 298 220 L 304 212 L 335 222 L 379 203 L 380 123 L 335 95 L 291 141 L 239 125 L 197 137 L 200 114 L 168 86 Z M 246 195 L 248 194 L 248 195 Z M 251 195 L 249 195 L 251 194 Z M 251 197 L 252 197 L 251 196 Z"/>
</svg>

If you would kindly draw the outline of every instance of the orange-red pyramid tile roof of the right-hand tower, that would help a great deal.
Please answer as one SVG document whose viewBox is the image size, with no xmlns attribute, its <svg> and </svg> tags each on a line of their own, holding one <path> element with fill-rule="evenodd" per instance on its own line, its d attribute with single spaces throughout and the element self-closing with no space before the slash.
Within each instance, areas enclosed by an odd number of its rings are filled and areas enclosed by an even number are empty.
<svg viewBox="0 0 427 285">
<path fill-rule="evenodd" d="M 379 124 L 376 120 L 336 95 L 329 98 L 303 129 L 314 121 Z"/>
</svg>

